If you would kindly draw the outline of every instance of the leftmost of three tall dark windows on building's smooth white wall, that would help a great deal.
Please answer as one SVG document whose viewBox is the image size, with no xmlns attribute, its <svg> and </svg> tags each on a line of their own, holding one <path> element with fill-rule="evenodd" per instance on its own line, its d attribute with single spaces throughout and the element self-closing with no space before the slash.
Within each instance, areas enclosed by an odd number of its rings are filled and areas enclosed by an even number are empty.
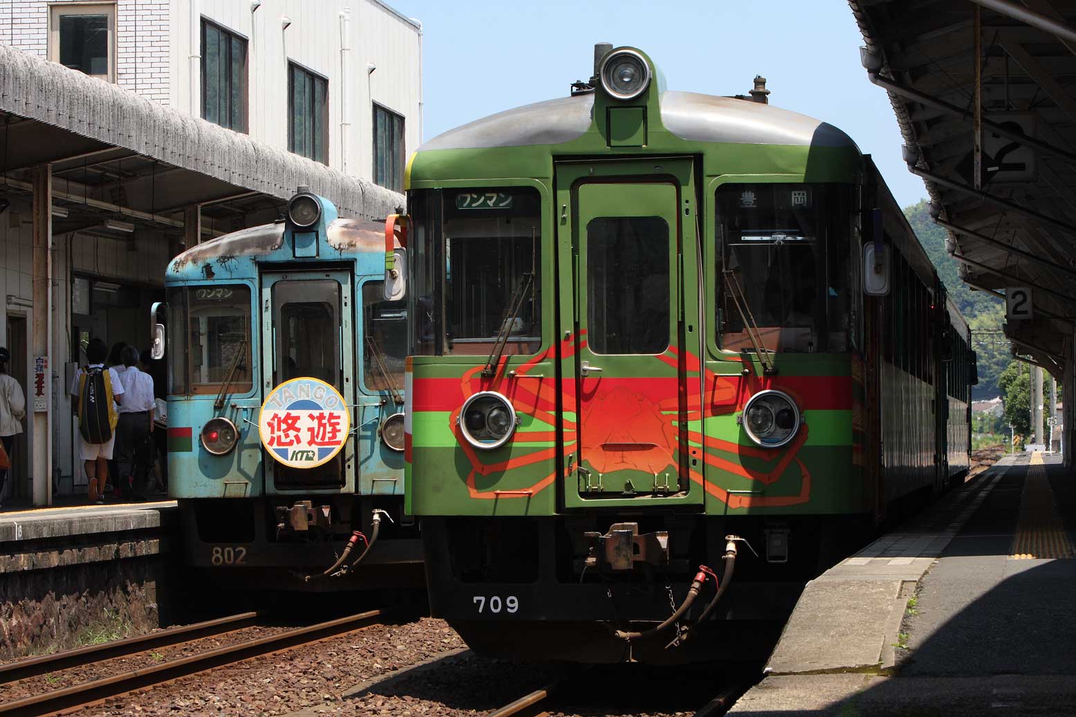
<svg viewBox="0 0 1076 717">
<path fill-rule="evenodd" d="M 246 131 L 246 40 L 202 20 L 202 118 Z"/>
</svg>

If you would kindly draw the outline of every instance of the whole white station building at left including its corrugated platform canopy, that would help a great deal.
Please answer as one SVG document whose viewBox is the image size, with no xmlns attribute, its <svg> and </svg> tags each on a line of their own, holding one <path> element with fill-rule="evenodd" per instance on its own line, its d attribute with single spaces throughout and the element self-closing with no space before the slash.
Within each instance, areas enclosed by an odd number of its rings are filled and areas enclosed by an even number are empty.
<svg viewBox="0 0 1076 717">
<path fill-rule="evenodd" d="M 67 388 L 90 338 L 150 345 L 186 246 L 402 205 L 422 28 L 378 0 L 0 0 L 0 345 L 27 393 L 5 502 L 85 490 Z"/>
</svg>

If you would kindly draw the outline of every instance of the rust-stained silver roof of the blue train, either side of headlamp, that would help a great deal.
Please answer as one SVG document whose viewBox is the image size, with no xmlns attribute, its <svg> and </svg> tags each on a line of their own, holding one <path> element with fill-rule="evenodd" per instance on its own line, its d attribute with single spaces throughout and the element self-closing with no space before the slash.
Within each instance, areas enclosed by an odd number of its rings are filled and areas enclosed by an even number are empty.
<svg viewBox="0 0 1076 717">
<path fill-rule="evenodd" d="M 238 257 L 268 256 L 284 245 L 283 221 L 241 229 L 192 246 L 172 259 L 168 273 L 182 272 L 210 261 L 228 262 Z M 384 254 L 385 226 L 372 219 L 334 219 L 326 228 L 326 243 L 341 253 Z M 396 242 L 397 248 L 399 242 Z M 291 258 L 291 250 L 288 250 Z M 323 256 L 322 259 L 325 259 Z"/>
</svg>

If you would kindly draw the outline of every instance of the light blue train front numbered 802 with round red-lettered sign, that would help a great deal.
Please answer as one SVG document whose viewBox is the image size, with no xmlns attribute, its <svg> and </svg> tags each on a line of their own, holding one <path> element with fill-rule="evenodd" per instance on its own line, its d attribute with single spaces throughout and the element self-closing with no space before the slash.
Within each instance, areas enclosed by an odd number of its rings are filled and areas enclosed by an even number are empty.
<svg viewBox="0 0 1076 717">
<path fill-rule="evenodd" d="M 383 224 L 300 187 L 283 220 L 169 264 L 169 493 L 186 562 L 214 585 L 421 585 L 406 307 L 385 299 L 383 257 Z"/>
</svg>

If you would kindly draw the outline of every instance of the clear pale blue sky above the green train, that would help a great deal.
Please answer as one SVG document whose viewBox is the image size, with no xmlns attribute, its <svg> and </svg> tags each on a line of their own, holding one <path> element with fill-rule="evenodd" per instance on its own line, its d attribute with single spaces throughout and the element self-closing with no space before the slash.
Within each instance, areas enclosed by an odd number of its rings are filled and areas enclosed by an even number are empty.
<svg viewBox="0 0 1076 717">
<path fill-rule="evenodd" d="M 388 0 L 423 26 L 423 138 L 568 95 L 593 72 L 594 43 L 650 55 L 668 89 L 746 95 L 847 132 L 874 156 L 901 206 L 926 197 L 901 158 L 889 97 L 860 64 L 845 0 Z M 410 150 L 410 148 L 409 148 Z"/>
</svg>

